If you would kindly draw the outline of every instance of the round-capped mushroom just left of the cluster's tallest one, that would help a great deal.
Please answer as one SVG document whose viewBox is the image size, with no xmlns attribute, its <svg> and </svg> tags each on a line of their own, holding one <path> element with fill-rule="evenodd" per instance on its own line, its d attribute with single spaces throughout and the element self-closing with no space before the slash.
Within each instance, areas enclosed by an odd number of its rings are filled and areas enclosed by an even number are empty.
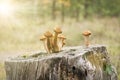
<svg viewBox="0 0 120 80">
<path fill-rule="evenodd" d="M 53 35 L 52 35 L 51 32 L 46 31 L 44 33 L 44 36 L 47 39 L 47 41 L 46 41 L 46 50 L 47 50 L 48 53 L 51 53 L 51 51 L 52 51 L 52 45 L 51 45 L 52 41 L 51 41 L 51 38 L 52 38 Z"/>
</svg>

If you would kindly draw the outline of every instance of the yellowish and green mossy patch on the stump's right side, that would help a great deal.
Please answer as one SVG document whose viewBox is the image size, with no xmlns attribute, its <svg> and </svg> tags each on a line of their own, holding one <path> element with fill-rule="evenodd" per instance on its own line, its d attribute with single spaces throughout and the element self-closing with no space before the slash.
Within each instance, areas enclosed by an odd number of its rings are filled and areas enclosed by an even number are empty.
<svg viewBox="0 0 120 80">
<path fill-rule="evenodd" d="M 92 65 L 96 67 L 96 69 L 103 69 L 107 74 L 111 74 L 112 67 L 111 64 L 105 59 L 102 53 L 89 53 L 86 56 L 88 61 L 91 62 Z"/>
</svg>

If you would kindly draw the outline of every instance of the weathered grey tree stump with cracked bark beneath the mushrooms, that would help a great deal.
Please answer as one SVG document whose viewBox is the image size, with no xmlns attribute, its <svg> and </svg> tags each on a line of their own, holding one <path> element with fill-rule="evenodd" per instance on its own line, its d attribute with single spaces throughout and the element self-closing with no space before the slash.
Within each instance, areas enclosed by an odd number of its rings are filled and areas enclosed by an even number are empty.
<svg viewBox="0 0 120 80">
<path fill-rule="evenodd" d="M 5 61 L 6 80 L 117 80 L 105 46 L 69 47 Z"/>
</svg>

